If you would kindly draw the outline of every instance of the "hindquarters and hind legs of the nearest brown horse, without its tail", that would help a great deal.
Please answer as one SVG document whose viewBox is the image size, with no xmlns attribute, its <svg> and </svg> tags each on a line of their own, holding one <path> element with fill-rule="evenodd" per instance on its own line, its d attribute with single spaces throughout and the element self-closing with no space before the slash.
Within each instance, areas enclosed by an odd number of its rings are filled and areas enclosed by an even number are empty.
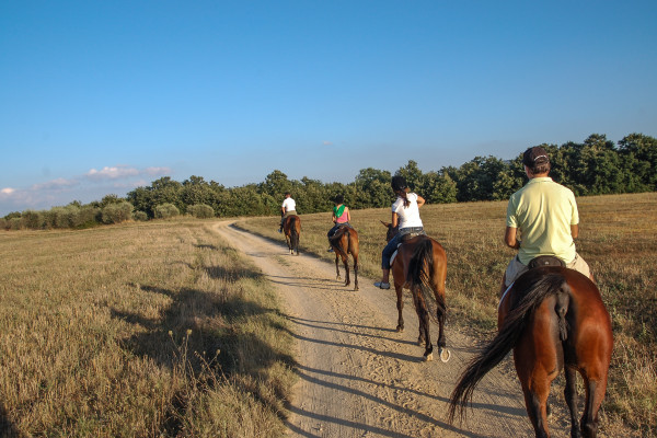
<svg viewBox="0 0 657 438">
<path fill-rule="evenodd" d="M 613 348 L 611 319 L 600 291 L 585 275 L 564 267 L 544 269 L 562 278 L 561 290 L 537 309 L 514 349 L 527 411 L 537 436 L 549 436 L 550 385 L 563 368 L 570 435 L 596 437 Z M 581 423 L 577 417 L 577 372 L 584 379 L 586 397 Z"/>
</svg>

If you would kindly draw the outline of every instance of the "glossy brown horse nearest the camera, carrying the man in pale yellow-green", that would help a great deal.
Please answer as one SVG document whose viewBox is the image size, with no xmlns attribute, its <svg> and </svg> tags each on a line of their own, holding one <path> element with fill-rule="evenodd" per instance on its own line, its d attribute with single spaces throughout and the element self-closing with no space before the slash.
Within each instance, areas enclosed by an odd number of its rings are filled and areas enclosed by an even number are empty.
<svg viewBox="0 0 657 438">
<path fill-rule="evenodd" d="M 530 269 L 503 296 L 498 333 L 461 376 L 450 397 L 449 419 L 453 420 L 457 408 L 463 417 L 474 387 L 512 348 L 535 436 L 550 437 L 548 395 L 552 381 L 565 368 L 570 436 L 596 437 L 612 347 L 611 319 L 596 284 L 561 266 Z M 577 418 L 577 371 L 586 391 L 581 427 Z"/>
</svg>

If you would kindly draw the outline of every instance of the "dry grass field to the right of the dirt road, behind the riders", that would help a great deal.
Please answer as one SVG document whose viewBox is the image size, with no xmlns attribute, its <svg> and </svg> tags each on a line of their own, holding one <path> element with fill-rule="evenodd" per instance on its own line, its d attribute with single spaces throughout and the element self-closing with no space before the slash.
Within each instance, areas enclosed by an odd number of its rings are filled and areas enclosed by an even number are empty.
<svg viewBox="0 0 657 438">
<path fill-rule="evenodd" d="M 450 324 L 482 338 L 495 330 L 497 292 L 514 251 L 503 244 L 506 201 L 427 205 L 427 232 L 448 254 L 447 300 Z M 579 254 L 599 284 L 614 330 L 602 425 L 610 436 L 629 426 L 638 436 L 657 435 L 657 193 L 578 199 Z M 303 211 L 303 206 L 298 206 Z M 360 234 L 361 274 L 380 276 L 380 252 L 388 209 L 351 211 Z M 325 260 L 331 214 L 301 216 L 301 250 Z M 278 218 L 251 218 L 239 226 L 284 240 Z M 560 390 L 561 391 L 561 390 Z"/>
</svg>

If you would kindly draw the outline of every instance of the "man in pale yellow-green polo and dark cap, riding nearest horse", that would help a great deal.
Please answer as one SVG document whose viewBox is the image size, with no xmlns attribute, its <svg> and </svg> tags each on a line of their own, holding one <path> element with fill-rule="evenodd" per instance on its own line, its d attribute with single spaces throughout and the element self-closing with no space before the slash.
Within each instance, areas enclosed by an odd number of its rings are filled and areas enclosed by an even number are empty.
<svg viewBox="0 0 657 438">
<path fill-rule="evenodd" d="M 522 164 L 529 182 L 509 199 L 504 237 L 509 247 L 518 250 L 518 256 L 506 269 L 502 291 L 540 255 L 553 255 L 592 280 L 587 263 L 575 251 L 574 239 L 579 233 L 575 195 L 548 176 L 550 158 L 543 148 L 525 151 Z"/>
</svg>

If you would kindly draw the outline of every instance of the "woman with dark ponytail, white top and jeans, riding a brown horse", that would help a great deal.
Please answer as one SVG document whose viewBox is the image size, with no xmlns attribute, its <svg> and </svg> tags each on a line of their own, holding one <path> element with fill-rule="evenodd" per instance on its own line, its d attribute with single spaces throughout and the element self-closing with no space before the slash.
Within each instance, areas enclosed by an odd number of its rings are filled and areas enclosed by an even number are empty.
<svg viewBox="0 0 657 438">
<path fill-rule="evenodd" d="M 374 286 L 381 289 L 390 289 L 390 257 L 402 241 L 404 234 L 424 231 L 422 219 L 419 218 L 419 207 L 425 203 L 424 198 L 415 193 L 411 193 L 406 180 L 403 176 L 393 176 L 391 182 L 392 191 L 397 198 L 392 204 L 392 227 L 400 227 L 400 231 L 388 242 L 381 254 L 381 281 L 374 283 Z"/>
</svg>

